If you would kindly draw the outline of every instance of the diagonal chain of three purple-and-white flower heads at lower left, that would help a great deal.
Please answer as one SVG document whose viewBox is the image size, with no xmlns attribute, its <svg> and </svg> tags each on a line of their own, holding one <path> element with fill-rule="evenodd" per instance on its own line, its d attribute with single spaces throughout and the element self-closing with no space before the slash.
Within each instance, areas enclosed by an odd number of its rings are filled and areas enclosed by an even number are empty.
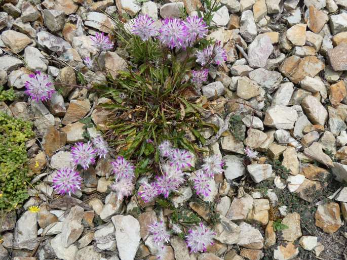
<svg viewBox="0 0 347 260">
<path fill-rule="evenodd" d="M 94 147 L 93 147 L 94 145 Z M 73 167 L 64 167 L 58 169 L 53 176 L 53 189 L 58 194 L 74 194 L 76 190 L 81 189 L 81 181 L 79 172 L 75 169 L 77 165 L 81 165 L 83 169 L 88 169 L 89 165 L 95 163 L 95 156 L 105 157 L 108 152 L 107 143 L 102 137 L 93 139 L 93 143 L 76 143 L 71 148 L 71 162 Z"/>
</svg>

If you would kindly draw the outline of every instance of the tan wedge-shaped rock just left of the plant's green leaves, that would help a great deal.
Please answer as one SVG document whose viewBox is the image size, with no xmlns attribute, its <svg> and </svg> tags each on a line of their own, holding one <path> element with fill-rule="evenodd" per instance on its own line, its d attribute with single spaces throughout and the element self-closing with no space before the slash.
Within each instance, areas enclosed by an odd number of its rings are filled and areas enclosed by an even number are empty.
<svg viewBox="0 0 347 260">
<path fill-rule="evenodd" d="M 62 120 L 63 124 L 69 124 L 82 119 L 90 110 L 90 101 L 71 100 L 66 114 Z"/>
</svg>

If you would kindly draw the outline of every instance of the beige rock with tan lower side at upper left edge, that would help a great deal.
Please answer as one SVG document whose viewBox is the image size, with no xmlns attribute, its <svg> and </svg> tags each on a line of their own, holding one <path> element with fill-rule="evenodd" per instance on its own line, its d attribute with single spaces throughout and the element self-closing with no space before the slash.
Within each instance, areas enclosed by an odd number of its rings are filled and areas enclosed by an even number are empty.
<svg viewBox="0 0 347 260">
<path fill-rule="evenodd" d="M 20 53 L 24 48 L 31 43 L 31 39 L 24 33 L 7 30 L 1 34 L 1 39 L 4 44 L 14 53 Z"/>
</svg>

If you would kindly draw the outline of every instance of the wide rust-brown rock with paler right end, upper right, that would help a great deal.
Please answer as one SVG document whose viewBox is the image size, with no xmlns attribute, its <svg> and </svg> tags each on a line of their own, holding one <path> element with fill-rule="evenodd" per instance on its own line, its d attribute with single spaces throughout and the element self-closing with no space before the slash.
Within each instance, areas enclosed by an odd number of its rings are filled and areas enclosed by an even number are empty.
<svg viewBox="0 0 347 260">
<path fill-rule="evenodd" d="M 298 83 L 305 76 L 316 76 L 324 67 L 324 63 L 315 56 L 300 59 L 300 57 L 293 55 L 284 60 L 279 70 L 292 82 Z"/>
</svg>

